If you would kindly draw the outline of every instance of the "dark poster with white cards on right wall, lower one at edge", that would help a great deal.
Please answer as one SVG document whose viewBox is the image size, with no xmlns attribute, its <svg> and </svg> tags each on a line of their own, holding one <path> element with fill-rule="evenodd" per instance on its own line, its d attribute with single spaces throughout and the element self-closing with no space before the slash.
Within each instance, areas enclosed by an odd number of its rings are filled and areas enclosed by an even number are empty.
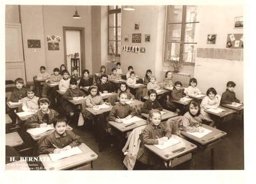
<svg viewBox="0 0 256 184">
<path fill-rule="evenodd" d="M 230 49 L 243 49 L 244 48 L 243 34 L 228 34 L 227 35 L 227 48 Z"/>
</svg>

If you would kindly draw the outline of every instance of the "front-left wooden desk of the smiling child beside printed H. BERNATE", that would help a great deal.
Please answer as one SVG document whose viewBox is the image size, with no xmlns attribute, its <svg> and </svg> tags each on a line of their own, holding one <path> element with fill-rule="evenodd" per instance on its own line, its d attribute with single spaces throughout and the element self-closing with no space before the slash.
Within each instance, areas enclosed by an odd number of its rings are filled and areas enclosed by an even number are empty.
<svg viewBox="0 0 256 184">
<path fill-rule="evenodd" d="M 83 153 L 68 158 L 51 161 L 48 154 L 39 155 L 39 158 L 43 160 L 42 163 L 46 170 L 91 170 L 93 168 L 92 161 L 96 160 L 98 155 L 84 143 L 78 147 Z"/>
</svg>

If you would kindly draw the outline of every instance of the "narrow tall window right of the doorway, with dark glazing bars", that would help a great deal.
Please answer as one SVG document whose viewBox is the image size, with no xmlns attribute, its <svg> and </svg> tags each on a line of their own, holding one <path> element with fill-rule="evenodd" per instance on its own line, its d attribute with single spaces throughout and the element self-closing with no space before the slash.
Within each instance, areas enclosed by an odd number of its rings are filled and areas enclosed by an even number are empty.
<svg viewBox="0 0 256 184">
<path fill-rule="evenodd" d="M 109 6 L 109 54 L 112 55 L 111 46 L 115 56 L 121 52 L 121 6 Z"/>
</svg>

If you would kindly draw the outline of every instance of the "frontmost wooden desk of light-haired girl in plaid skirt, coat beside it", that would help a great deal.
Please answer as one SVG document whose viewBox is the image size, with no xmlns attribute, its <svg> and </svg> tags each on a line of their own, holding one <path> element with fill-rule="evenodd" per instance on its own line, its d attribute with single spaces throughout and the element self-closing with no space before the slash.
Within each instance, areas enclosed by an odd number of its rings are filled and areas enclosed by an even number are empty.
<svg viewBox="0 0 256 184">
<path fill-rule="evenodd" d="M 180 142 L 165 149 L 159 149 L 154 145 L 144 145 L 147 149 L 164 160 L 169 167 L 174 167 L 190 160 L 192 158 L 191 152 L 197 148 L 196 145 L 178 137 L 178 135 L 172 135 L 172 138 L 178 139 Z"/>
</svg>

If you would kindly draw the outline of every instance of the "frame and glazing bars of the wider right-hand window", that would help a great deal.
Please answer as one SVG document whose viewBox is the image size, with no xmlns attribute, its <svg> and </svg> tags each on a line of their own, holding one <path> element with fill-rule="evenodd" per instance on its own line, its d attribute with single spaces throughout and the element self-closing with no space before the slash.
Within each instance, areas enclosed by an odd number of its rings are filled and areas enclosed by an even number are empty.
<svg viewBox="0 0 256 184">
<path fill-rule="evenodd" d="M 173 5 L 167 5 L 166 8 L 166 28 L 165 28 L 165 45 L 164 45 L 164 62 L 167 59 L 167 52 L 168 52 L 168 43 L 179 43 L 180 44 L 180 53 L 179 57 L 181 60 L 183 60 L 183 52 L 184 52 L 184 45 L 185 44 L 197 44 L 197 42 L 185 42 L 185 29 L 186 29 L 186 24 L 193 24 L 193 23 L 199 23 L 199 21 L 196 22 L 186 22 L 186 10 L 187 6 L 183 5 L 182 6 L 182 20 L 181 22 L 176 22 L 176 23 L 169 23 L 169 16 L 170 16 L 170 6 Z M 168 30 L 169 30 L 169 25 L 174 25 L 174 24 L 181 24 L 181 34 L 180 34 L 180 42 L 173 42 L 169 41 L 169 35 L 168 35 Z M 194 62 L 185 62 L 186 65 L 194 66 Z"/>
</svg>

